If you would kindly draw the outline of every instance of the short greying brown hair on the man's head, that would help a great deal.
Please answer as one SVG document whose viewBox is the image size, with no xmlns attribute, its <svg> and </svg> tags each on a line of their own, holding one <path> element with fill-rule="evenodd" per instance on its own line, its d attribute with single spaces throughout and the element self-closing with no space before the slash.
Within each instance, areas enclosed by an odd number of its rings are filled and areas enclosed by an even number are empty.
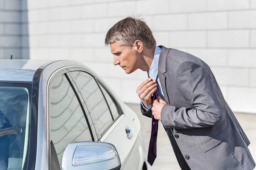
<svg viewBox="0 0 256 170">
<path fill-rule="evenodd" d="M 105 45 L 116 40 L 128 47 L 133 47 L 136 40 L 142 41 L 147 48 L 154 48 L 157 44 L 148 25 L 142 19 L 134 17 L 120 20 L 108 30 Z"/>
</svg>

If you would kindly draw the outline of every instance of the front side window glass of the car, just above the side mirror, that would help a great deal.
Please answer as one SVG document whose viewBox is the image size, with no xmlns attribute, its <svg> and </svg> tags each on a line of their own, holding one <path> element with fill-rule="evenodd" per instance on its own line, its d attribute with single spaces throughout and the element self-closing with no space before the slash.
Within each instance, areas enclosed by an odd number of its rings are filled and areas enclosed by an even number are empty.
<svg viewBox="0 0 256 170">
<path fill-rule="evenodd" d="M 68 144 L 92 141 L 81 105 L 65 75 L 54 80 L 50 91 L 50 123 L 60 165 Z"/>
</svg>

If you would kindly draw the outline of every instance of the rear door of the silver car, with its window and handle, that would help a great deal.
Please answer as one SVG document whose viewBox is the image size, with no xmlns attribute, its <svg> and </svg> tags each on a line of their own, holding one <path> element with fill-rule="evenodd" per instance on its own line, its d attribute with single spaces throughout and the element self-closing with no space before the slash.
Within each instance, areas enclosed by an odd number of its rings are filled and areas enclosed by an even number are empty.
<svg viewBox="0 0 256 170">
<path fill-rule="evenodd" d="M 122 163 L 121 169 L 138 169 L 140 154 L 136 152 L 137 134 L 134 133 L 132 122 L 122 113 L 122 109 L 116 108 L 116 101 L 106 95 L 107 89 L 99 85 L 90 72 L 80 70 L 70 74 L 80 88 L 92 119 L 95 119 L 99 141 L 116 147 Z"/>
</svg>

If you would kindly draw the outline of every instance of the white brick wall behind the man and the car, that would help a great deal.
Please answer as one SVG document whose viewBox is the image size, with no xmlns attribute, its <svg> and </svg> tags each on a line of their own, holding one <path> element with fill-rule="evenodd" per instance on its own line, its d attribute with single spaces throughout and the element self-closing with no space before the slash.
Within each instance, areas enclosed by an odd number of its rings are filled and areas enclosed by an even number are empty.
<svg viewBox="0 0 256 170">
<path fill-rule="evenodd" d="M 139 102 L 147 74 L 113 66 L 104 45 L 131 15 L 145 19 L 157 45 L 207 62 L 234 111 L 256 113 L 256 0 L 0 0 L 0 57 L 79 60 L 125 102 Z"/>
</svg>

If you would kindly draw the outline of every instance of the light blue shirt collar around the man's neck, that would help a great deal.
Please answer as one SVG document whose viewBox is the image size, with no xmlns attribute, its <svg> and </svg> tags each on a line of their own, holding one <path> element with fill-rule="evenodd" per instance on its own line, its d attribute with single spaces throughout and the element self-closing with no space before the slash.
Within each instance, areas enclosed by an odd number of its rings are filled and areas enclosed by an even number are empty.
<svg viewBox="0 0 256 170">
<path fill-rule="evenodd" d="M 148 71 L 148 77 L 150 77 L 154 81 L 157 80 L 158 61 L 159 61 L 160 52 L 161 52 L 161 48 L 156 46 L 155 51 L 154 51 L 154 59 L 153 59 L 153 62 L 151 64 L 150 68 L 149 68 L 149 71 Z"/>
</svg>

